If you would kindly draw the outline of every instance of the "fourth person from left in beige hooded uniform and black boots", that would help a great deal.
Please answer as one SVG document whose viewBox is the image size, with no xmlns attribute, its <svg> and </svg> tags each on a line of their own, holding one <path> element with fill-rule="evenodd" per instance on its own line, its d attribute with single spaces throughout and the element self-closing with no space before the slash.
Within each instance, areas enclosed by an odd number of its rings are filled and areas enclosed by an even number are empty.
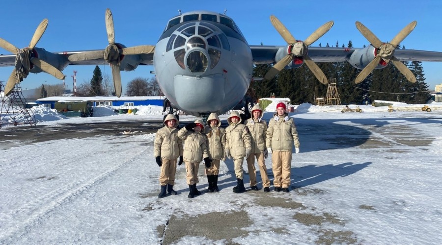
<svg viewBox="0 0 442 245">
<path fill-rule="evenodd" d="M 243 180 L 243 161 L 244 157 L 249 157 L 251 153 L 251 143 L 249 129 L 241 124 L 241 118 L 238 112 L 232 111 L 227 118 L 229 126 L 225 129 L 225 155 L 233 158 L 235 166 L 235 175 L 237 185 L 233 187 L 234 193 L 243 193 L 246 191 Z"/>
</svg>

